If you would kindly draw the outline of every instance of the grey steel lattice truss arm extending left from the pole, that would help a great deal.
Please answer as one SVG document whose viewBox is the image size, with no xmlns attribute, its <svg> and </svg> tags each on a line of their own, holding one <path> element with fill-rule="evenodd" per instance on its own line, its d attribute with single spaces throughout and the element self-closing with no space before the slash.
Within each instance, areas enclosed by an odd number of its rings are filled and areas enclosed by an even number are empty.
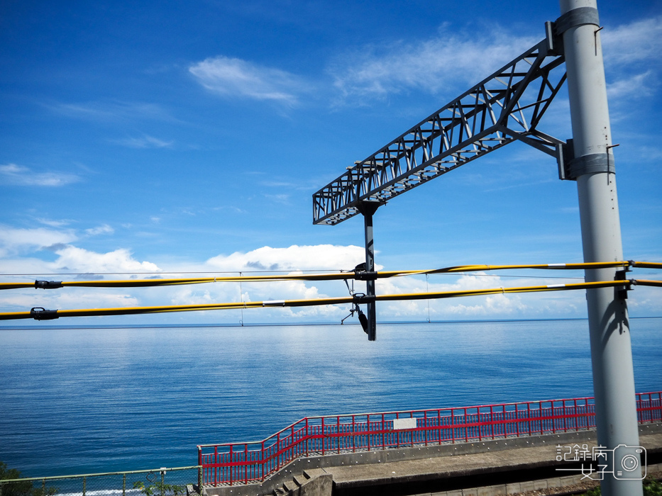
<svg viewBox="0 0 662 496">
<path fill-rule="evenodd" d="M 521 140 L 557 156 L 563 141 L 536 129 L 566 80 L 543 40 L 313 195 L 313 223 L 334 225 L 364 200 L 399 194 Z M 556 69 L 556 70 L 554 70 Z"/>
</svg>

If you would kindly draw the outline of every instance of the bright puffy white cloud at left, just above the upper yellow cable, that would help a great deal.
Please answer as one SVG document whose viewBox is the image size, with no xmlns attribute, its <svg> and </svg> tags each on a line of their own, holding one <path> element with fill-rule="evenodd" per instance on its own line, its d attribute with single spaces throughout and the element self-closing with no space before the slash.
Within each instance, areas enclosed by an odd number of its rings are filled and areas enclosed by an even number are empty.
<svg viewBox="0 0 662 496">
<path fill-rule="evenodd" d="M 48 264 L 54 271 L 89 272 L 104 274 L 108 272 L 158 272 L 156 264 L 149 261 L 137 261 L 131 257 L 128 249 L 116 249 L 113 252 L 96 253 L 87 249 L 67 244 L 57 247 L 58 258 Z"/>
</svg>

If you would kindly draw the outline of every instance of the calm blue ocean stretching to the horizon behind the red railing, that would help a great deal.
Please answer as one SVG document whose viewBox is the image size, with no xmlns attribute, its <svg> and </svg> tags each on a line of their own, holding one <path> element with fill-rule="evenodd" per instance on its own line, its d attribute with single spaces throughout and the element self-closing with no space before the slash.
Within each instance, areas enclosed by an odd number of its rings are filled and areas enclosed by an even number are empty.
<svg viewBox="0 0 662 496">
<path fill-rule="evenodd" d="M 631 319 L 637 392 L 662 390 L 662 318 Z M 0 327 L 0 461 L 24 477 L 192 466 L 197 444 L 309 415 L 592 395 L 586 320 Z"/>
</svg>

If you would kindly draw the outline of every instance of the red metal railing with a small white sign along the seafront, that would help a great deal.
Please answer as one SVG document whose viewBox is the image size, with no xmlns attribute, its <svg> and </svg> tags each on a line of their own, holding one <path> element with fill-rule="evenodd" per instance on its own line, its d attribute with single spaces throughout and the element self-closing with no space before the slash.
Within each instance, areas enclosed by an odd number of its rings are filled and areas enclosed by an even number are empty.
<svg viewBox="0 0 662 496">
<path fill-rule="evenodd" d="M 662 422 L 662 391 L 638 393 L 636 410 L 640 424 Z M 404 428 L 398 428 L 403 423 Z M 204 485 L 248 484 L 264 480 L 302 456 L 535 436 L 592 427 L 593 398 L 306 417 L 264 441 L 201 444 L 198 464 L 202 466 Z"/>
</svg>

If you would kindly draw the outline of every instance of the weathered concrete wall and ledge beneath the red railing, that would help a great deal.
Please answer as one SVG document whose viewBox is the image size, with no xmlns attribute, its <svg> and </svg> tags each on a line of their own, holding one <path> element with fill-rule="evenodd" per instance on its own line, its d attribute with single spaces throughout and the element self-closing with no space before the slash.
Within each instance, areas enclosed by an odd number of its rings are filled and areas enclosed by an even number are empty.
<svg viewBox="0 0 662 496">
<path fill-rule="evenodd" d="M 649 456 L 653 453 L 660 453 L 662 455 L 662 424 L 646 424 L 639 427 L 642 445 L 649 450 Z M 330 473 L 333 475 L 333 495 L 368 495 L 380 494 L 390 492 L 391 494 L 422 494 L 422 495 L 443 495 L 467 496 L 474 494 L 471 492 L 457 492 L 470 491 L 464 489 L 465 487 L 473 487 L 478 490 L 476 486 L 481 486 L 480 494 L 491 495 L 499 494 L 494 492 L 497 489 L 502 491 L 509 490 L 513 492 L 516 490 L 516 485 L 519 484 L 519 492 L 524 490 L 541 489 L 544 487 L 531 487 L 529 483 L 531 480 L 544 480 L 545 484 L 551 483 L 558 485 L 557 480 L 561 478 L 556 477 L 558 473 L 554 473 L 554 466 L 558 463 L 553 461 L 553 453 L 557 445 L 566 446 L 569 444 L 595 444 L 595 431 L 587 430 L 580 432 L 568 432 L 563 434 L 546 434 L 543 436 L 530 436 L 509 439 L 499 439 L 495 441 L 478 441 L 471 443 L 460 444 L 442 444 L 436 446 L 416 446 L 403 449 L 386 449 L 378 451 L 361 451 L 356 453 L 335 453 L 326 454 L 324 456 L 309 456 L 307 458 L 298 458 L 292 461 L 287 466 L 282 468 L 278 473 L 275 473 L 267 478 L 263 483 L 251 485 L 237 485 L 232 487 L 205 487 L 204 492 L 207 496 L 262 496 L 271 495 L 275 490 L 282 489 L 283 485 L 288 481 L 294 480 L 294 476 L 300 476 L 307 471 L 314 473 L 314 469 L 321 469 L 321 473 Z M 644 444 L 643 439 L 649 439 L 650 446 Z M 653 446 L 654 445 L 654 446 Z M 544 453 L 549 456 L 543 458 L 526 458 L 526 453 L 529 453 L 530 448 L 544 448 Z M 539 450 L 540 451 L 540 450 Z M 504 452 L 501 454 L 500 452 Z M 426 463 L 429 465 L 430 461 L 438 461 L 439 459 L 448 458 L 448 461 L 461 461 L 465 456 L 477 455 L 478 453 L 485 453 L 485 463 L 473 465 L 468 468 L 460 467 L 453 470 L 438 470 L 425 468 Z M 490 453 L 499 453 L 497 458 L 490 456 Z M 500 465 L 498 461 L 500 458 L 515 455 L 519 453 L 522 458 L 524 453 L 524 460 L 517 461 L 515 465 Z M 458 458 L 456 458 L 458 457 Z M 517 457 L 515 457 L 517 458 Z M 472 458 L 474 461 L 480 457 Z M 400 466 L 407 461 L 421 461 L 420 463 L 409 463 L 407 470 L 408 475 L 396 478 L 395 476 L 387 475 L 384 480 L 379 480 L 381 475 L 365 475 L 362 472 L 378 473 L 380 465 L 397 464 Z M 443 461 L 443 460 L 442 460 Z M 651 460 L 652 461 L 652 460 Z M 365 467 L 365 469 L 361 468 Z M 413 468 L 412 468 L 413 467 Z M 353 468 L 352 470 L 347 470 Z M 385 467 L 382 467 L 385 468 Z M 343 471 L 344 470 L 344 471 Z M 419 473 L 416 473 L 419 470 Z M 427 471 L 426 471 L 427 470 Z M 353 475 L 348 475 L 352 471 Z M 516 473 L 517 472 L 517 473 Z M 320 472 L 317 472 L 320 474 Z M 342 473 L 342 475 L 340 475 Z M 551 475 L 546 475 L 550 474 Z M 445 479 L 444 479 L 445 478 Z M 494 490 L 488 490 L 487 487 L 492 487 L 490 483 L 484 483 L 489 478 L 500 479 L 498 484 L 492 485 Z M 529 478 L 528 480 L 526 478 Z M 454 479 L 456 487 L 451 491 L 446 492 L 416 492 L 417 484 L 419 487 L 426 487 L 434 485 L 435 480 Z M 564 479 L 564 484 L 567 482 Z M 569 479 L 568 479 L 569 480 Z M 472 483 L 473 481 L 473 483 Z M 548 482 L 551 481 L 551 482 Z M 540 483 L 543 484 L 543 483 Z M 387 489 L 390 487 L 390 489 Z M 505 489 L 504 489 L 505 487 Z M 546 487 L 546 486 L 545 486 Z M 297 487 L 292 487 L 296 489 Z M 406 492 L 407 488 L 411 488 L 412 492 Z M 404 491 L 404 492 L 403 492 Z M 487 491 L 487 492 L 485 492 Z M 492 492 L 489 492 L 492 491 Z M 290 494 L 283 492 L 282 494 Z M 292 492 L 291 494 L 298 494 Z M 478 493 L 476 493 L 478 494 Z M 309 496 L 326 496 L 324 493 L 311 493 Z"/>
</svg>

